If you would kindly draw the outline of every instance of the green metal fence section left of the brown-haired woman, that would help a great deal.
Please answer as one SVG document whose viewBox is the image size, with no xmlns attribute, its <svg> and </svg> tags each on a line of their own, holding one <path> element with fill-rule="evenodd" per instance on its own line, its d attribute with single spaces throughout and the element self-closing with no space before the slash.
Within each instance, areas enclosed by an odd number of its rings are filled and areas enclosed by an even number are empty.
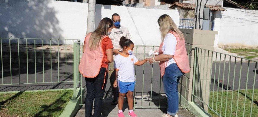
<svg viewBox="0 0 258 117">
<path fill-rule="evenodd" d="M 73 82 L 75 41 L 0 38 L 0 85 Z"/>
</svg>

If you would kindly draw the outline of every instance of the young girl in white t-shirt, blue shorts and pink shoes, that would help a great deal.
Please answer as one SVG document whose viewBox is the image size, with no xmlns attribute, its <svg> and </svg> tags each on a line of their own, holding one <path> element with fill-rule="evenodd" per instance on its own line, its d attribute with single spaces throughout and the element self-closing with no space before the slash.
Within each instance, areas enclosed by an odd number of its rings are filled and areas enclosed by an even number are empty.
<svg viewBox="0 0 258 117">
<path fill-rule="evenodd" d="M 139 61 L 133 55 L 134 44 L 130 39 L 121 37 L 119 45 L 123 49 L 120 54 L 118 54 L 114 60 L 114 70 L 115 70 L 115 82 L 114 87 L 118 86 L 119 97 L 118 97 L 118 117 L 124 117 L 122 108 L 124 104 L 125 95 L 127 96 L 129 113 L 131 117 L 136 117 L 133 112 L 133 91 L 135 86 L 134 68 L 133 65 L 142 65 L 148 61 L 144 59 Z"/>
</svg>

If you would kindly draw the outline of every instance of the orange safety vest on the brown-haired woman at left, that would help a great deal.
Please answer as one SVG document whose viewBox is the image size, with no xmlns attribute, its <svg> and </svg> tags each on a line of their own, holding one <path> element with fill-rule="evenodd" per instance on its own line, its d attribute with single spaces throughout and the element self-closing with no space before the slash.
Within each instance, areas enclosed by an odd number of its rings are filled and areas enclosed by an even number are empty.
<svg viewBox="0 0 258 117">
<path fill-rule="evenodd" d="M 95 78 L 99 75 L 100 72 L 100 68 L 103 62 L 103 59 L 106 58 L 104 56 L 104 51 L 102 49 L 102 41 L 100 42 L 100 46 L 97 50 L 90 50 L 89 49 L 89 38 L 91 36 L 92 33 L 89 33 L 86 37 L 85 37 L 85 51 L 82 54 L 82 58 L 80 60 L 80 64 L 79 64 L 79 71 L 80 73 L 83 75 L 83 77 L 86 78 Z M 102 40 L 104 38 L 106 38 L 107 36 L 105 35 Z M 107 58 L 105 59 L 105 62 L 107 63 Z M 106 66 L 107 69 L 107 66 Z M 105 84 L 105 80 L 106 80 L 106 73 L 104 76 L 104 84 Z M 103 87 L 104 87 L 103 84 Z M 103 89 L 102 87 L 102 89 Z"/>
</svg>

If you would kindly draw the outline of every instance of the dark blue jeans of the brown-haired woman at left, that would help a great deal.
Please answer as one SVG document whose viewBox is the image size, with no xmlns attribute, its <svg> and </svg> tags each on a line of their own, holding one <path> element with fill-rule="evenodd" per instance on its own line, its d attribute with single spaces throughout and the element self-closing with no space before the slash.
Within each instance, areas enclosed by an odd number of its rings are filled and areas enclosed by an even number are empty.
<svg viewBox="0 0 258 117">
<path fill-rule="evenodd" d="M 107 69 L 100 68 L 100 73 L 96 78 L 85 78 L 87 94 L 85 97 L 85 117 L 100 117 L 103 96 L 107 84 Z M 106 73 L 106 79 L 104 84 L 104 76 Z M 103 89 L 102 86 L 104 85 Z M 95 101 L 94 101 L 95 99 Z M 92 115 L 92 107 L 94 101 L 94 113 Z"/>
</svg>

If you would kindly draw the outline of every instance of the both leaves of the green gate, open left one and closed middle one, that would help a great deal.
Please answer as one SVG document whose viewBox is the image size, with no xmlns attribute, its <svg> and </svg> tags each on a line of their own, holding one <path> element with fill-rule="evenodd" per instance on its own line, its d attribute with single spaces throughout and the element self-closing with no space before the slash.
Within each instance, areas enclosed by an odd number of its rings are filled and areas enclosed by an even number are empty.
<svg viewBox="0 0 258 117">
<path fill-rule="evenodd" d="M 79 48 L 80 46 L 80 48 Z M 82 56 L 82 46 L 83 43 L 79 43 L 79 42 L 74 42 L 74 76 L 73 78 L 74 80 L 74 91 L 77 88 L 83 89 L 84 88 L 84 84 L 83 84 L 83 76 L 78 72 L 78 65 L 79 65 L 79 61 L 80 61 L 80 57 Z M 147 53 L 150 50 L 157 50 L 158 46 L 135 46 L 135 55 L 139 60 L 145 59 L 145 58 L 149 58 L 152 56 L 149 56 Z M 147 52 L 147 53 L 146 53 Z M 187 47 L 187 53 L 188 55 L 190 55 L 190 53 L 192 52 L 192 47 Z M 166 108 L 166 97 L 165 97 L 165 93 L 163 92 L 163 83 L 161 81 L 160 78 L 160 70 L 159 70 L 159 66 L 157 66 L 158 64 L 152 64 L 149 65 L 148 67 L 146 67 L 146 65 L 148 64 L 143 64 L 142 66 L 135 66 L 135 77 L 136 77 L 136 87 L 135 89 L 140 89 L 141 91 L 134 91 L 134 109 L 135 108 Z M 182 77 L 186 77 L 188 78 L 190 76 L 190 73 L 185 74 Z M 151 79 L 151 80 L 148 80 Z M 150 81 L 150 82 L 149 82 Z M 142 82 L 142 84 L 138 85 L 138 82 Z M 186 80 L 186 84 L 187 84 L 187 80 Z M 182 80 L 180 82 L 179 85 L 182 85 Z M 140 86 L 140 87 L 138 87 Z M 155 86 L 155 88 L 153 88 Z M 182 86 L 180 86 L 182 87 Z M 187 89 L 185 88 L 184 90 L 179 89 L 179 93 L 180 93 L 180 97 L 186 97 L 187 95 Z M 80 90 L 82 91 L 82 90 Z M 158 92 L 158 93 L 156 93 Z M 182 93 L 184 92 L 184 93 Z M 140 93 L 140 95 L 137 95 L 138 93 Z M 155 96 L 153 96 L 153 93 L 157 94 Z M 81 92 L 81 94 L 84 94 L 84 92 Z M 144 106 L 143 105 L 143 99 L 145 98 L 144 96 L 150 96 L 150 100 L 149 100 L 149 106 Z M 75 96 L 75 95 L 74 95 Z M 140 106 L 136 106 L 135 105 L 135 101 L 136 98 L 140 96 Z M 162 98 L 165 97 L 165 98 Z M 81 95 L 81 102 L 79 105 L 84 106 L 84 95 Z M 153 99 L 155 98 L 155 106 L 153 103 Z M 163 103 L 161 103 L 163 102 Z M 180 108 L 188 108 L 187 106 L 187 101 L 181 101 L 180 102 L 181 105 L 184 106 L 180 106 Z"/>
</svg>

